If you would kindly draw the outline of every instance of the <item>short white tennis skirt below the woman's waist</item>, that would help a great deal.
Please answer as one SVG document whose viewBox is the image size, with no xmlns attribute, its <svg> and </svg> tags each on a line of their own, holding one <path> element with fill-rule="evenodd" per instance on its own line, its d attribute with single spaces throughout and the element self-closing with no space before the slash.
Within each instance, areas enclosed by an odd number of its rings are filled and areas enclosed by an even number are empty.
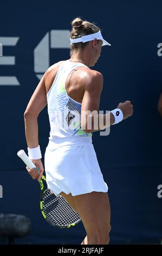
<svg viewBox="0 0 162 256">
<path fill-rule="evenodd" d="M 44 168 L 48 188 L 56 196 L 62 191 L 72 196 L 108 191 L 90 141 L 61 145 L 50 140 L 44 155 Z"/>
</svg>

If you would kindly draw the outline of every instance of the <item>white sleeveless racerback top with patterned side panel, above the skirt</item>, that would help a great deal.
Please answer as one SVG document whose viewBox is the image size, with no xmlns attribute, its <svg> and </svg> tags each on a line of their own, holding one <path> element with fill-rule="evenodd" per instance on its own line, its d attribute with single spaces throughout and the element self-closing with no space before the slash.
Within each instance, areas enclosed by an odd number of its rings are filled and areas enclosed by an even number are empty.
<svg viewBox="0 0 162 256">
<path fill-rule="evenodd" d="M 92 143 L 92 133 L 81 130 L 81 103 L 69 97 L 65 88 L 68 75 L 79 66 L 86 65 L 64 60 L 47 93 L 49 140 L 56 144 Z"/>
</svg>

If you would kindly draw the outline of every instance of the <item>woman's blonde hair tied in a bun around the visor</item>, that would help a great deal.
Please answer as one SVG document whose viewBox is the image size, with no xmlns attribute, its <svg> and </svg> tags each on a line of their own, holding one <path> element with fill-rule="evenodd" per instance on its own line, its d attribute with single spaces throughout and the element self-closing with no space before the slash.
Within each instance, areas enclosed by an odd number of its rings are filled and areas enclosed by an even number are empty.
<svg viewBox="0 0 162 256">
<path fill-rule="evenodd" d="M 94 22 L 83 21 L 80 17 L 76 17 L 72 22 L 72 31 L 70 31 L 70 38 L 76 39 L 80 38 L 82 35 L 94 34 L 101 31 L 101 28 L 97 27 Z M 88 42 L 77 42 L 70 45 L 70 57 L 72 57 L 73 52 L 77 52 L 83 49 Z"/>
</svg>

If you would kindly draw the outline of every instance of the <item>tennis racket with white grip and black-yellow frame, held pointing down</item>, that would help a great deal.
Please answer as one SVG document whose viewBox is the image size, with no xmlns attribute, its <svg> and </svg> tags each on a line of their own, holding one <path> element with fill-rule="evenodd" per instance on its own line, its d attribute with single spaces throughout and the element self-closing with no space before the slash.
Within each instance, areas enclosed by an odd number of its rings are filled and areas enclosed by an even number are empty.
<svg viewBox="0 0 162 256">
<path fill-rule="evenodd" d="M 36 168 L 24 150 L 18 151 L 17 155 L 29 169 Z M 62 196 L 56 197 L 51 190 L 45 189 L 47 183 L 44 175 L 42 175 L 39 183 L 41 187 L 40 208 L 43 217 L 49 224 L 59 228 L 70 228 L 81 221 L 79 214 L 74 211 Z"/>
</svg>

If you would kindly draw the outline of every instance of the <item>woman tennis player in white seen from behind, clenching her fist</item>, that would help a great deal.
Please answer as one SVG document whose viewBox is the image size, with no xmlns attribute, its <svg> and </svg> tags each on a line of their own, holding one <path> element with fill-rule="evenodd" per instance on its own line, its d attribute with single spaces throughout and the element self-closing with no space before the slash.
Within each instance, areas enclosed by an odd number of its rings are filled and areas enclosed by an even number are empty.
<svg viewBox="0 0 162 256">
<path fill-rule="evenodd" d="M 61 194 L 78 212 L 87 233 L 82 245 L 106 245 L 111 230 L 111 209 L 92 132 L 130 117 L 133 106 L 130 101 L 120 102 L 117 108 L 102 115 L 104 127 L 100 125 L 96 129 L 95 119 L 98 118 L 99 123 L 101 115 L 93 111 L 99 112 L 103 76 L 90 67 L 98 62 L 102 46 L 110 44 L 94 23 L 77 17 L 72 27 L 70 59 L 50 66 L 24 113 L 28 155 L 40 168 L 40 174 L 35 169 L 27 167 L 27 170 L 33 179 L 40 180 L 45 169 L 48 188 L 56 196 Z M 46 106 L 50 136 L 43 169 L 37 117 Z"/>
</svg>

